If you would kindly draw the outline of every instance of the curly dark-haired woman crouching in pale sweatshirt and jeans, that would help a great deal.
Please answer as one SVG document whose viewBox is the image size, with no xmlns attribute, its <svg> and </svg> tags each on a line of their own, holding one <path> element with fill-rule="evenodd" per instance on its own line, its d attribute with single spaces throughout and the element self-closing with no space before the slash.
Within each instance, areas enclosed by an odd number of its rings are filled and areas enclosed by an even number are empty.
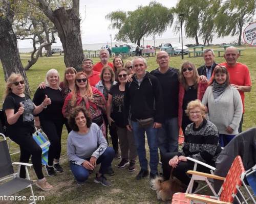
<svg viewBox="0 0 256 204">
<path fill-rule="evenodd" d="M 115 151 L 112 147 L 108 147 L 99 126 L 92 123 L 84 107 L 73 109 L 69 124 L 72 131 L 67 140 L 67 154 L 77 184 L 83 185 L 96 165 L 101 163 L 94 182 L 106 187 L 111 186 L 104 173 L 108 171 Z"/>
</svg>

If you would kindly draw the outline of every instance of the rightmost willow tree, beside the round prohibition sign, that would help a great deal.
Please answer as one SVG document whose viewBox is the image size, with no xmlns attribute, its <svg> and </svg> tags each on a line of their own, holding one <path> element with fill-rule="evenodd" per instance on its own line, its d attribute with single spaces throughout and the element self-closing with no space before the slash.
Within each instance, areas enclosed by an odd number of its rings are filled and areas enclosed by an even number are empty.
<svg viewBox="0 0 256 204">
<path fill-rule="evenodd" d="M 253 19 L 255 0 L 226 0 L 215 18 L 218 37 L 239 35 L 241 45 L 243 27 Z"/>
</svg>

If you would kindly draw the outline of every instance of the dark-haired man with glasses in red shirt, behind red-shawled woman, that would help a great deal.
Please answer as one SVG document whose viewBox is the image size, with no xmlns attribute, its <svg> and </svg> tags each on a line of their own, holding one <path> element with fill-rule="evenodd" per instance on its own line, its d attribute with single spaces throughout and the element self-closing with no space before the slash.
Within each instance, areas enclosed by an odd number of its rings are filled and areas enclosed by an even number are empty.
<svg viewBox="0 0 256 204">
<path fill-rule="evenodd" d="M 93 60 L 86 58 L 82 61 L 83 72 L 86 73 L 91 86 L 94 86 L 100 81 L 100 72 L 93 70 Z"/>
</svg>

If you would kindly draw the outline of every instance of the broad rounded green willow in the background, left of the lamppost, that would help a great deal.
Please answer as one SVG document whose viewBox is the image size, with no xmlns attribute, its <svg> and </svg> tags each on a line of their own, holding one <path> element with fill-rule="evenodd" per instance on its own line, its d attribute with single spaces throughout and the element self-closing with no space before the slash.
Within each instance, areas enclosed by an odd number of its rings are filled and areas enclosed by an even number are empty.
<svg viewBox="0 0 256 204">
<path fill-rule="evenodd" d="M 142 37 L 161 35 L 173 23 L 172 9 L 151 2 L 135 11 L 114 11 L 105 16 L 111 21 L 110 28 L 118 29 L 115 39 L 140 45 Z"/>
</svg>

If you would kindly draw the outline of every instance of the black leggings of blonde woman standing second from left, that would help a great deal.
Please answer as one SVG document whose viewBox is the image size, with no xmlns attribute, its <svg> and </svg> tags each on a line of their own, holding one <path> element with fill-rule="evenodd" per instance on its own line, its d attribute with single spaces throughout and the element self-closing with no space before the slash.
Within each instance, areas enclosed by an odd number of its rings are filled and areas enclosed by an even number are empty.
<svg viewBox="0 0 256 204">
<path fill-rule="evenodd" d="M 41 127 L 42 130 L 47 135 L 48 139 L 50 140 L 50 146 L 48 151 L 48 165 L 53 165 L 53 159 L 60 158 L 61 152 L 61 133 L 63 127 L 63 121 L 57 120 L 42 120 Z"/>
</svg>

